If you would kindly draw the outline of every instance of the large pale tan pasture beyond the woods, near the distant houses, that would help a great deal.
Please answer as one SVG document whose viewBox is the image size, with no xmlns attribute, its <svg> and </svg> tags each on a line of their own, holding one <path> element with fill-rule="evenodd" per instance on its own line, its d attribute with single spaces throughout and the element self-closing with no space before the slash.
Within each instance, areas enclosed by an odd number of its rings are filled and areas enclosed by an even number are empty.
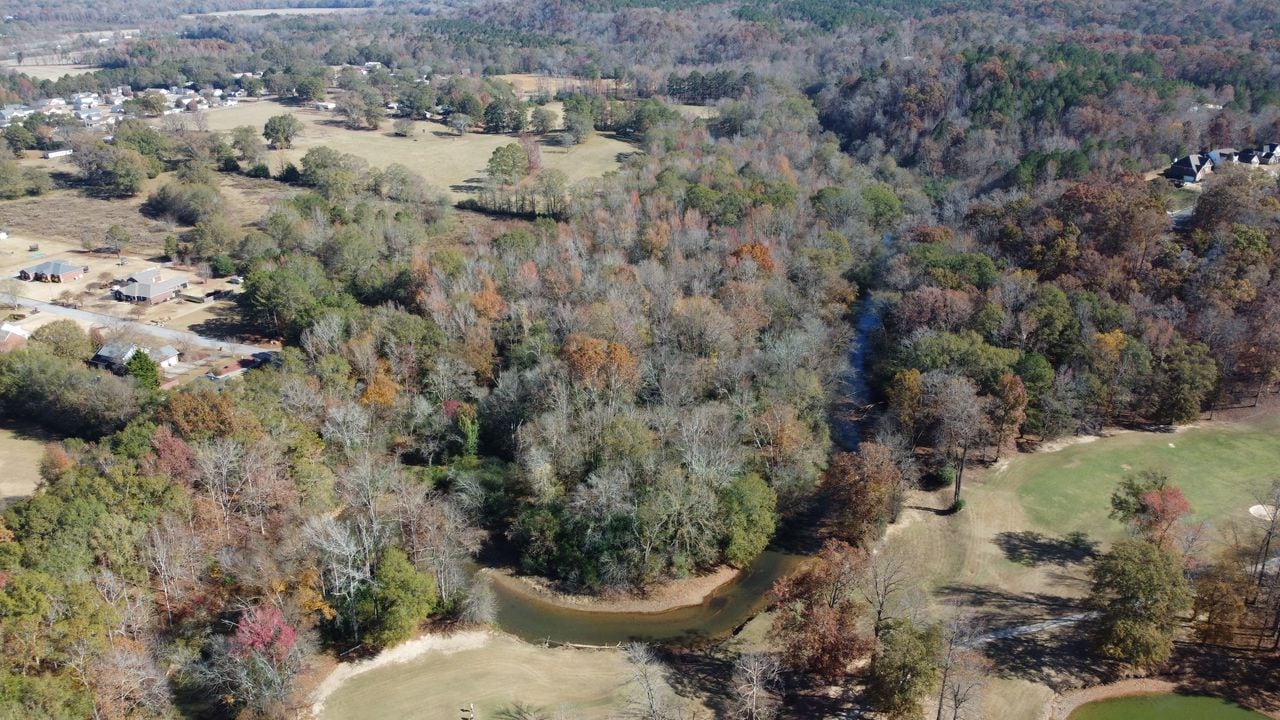
<svg viewBox="0 0 1280 720">
<path fill-rule="evenodd" d="M 342 127 L 337 115 L 275 101 L 241 102 L 234 108 L 209 111 L 210 129 L 229 131 L 238 126 L 261 128 L 268 118 L 291 113 L 303 124 L 302 133 L 291 150 L 270 154 L 273 170 L 287 161 L 297 161 L 311 147 L 326 145 L 343 152 L 364 158 L 374 167 L 399 163 L 421 174 L 428 183 L 451 195 L 453 200 L 466 197 L 484 181 L 485 164 L 495 149 L 515 142 L 507 135 L 466 133 L 454 136 L 444 126 L 431 122 L 415 123 L 411 137 L 398 137 L 390 132 L 390 123 L 380 131 L 352 131 Z M 618 165 L 621 156 L 636 149 L 621 140 L 596 135 L 573 147 L 544 143 L 543 167 L 557 168 L 577 182 L 599 177 Z"/>
</svg>

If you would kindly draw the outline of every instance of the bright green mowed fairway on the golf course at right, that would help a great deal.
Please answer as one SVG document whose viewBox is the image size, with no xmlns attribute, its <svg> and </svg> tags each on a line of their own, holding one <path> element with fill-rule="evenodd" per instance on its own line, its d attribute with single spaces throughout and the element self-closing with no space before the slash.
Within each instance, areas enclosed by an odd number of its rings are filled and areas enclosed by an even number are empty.
<svg viewBox="0 0 1280 720">
<path fill-rule="evenodd" d="M 1028 519 L 1046 532 L 1107 538 L 1116 483 L 1158 470 L 1181 488 L 1194 519 L 1244 519 L 1256 497 L 1280 479 L 1280 418 L 1208 423 L 1179 433 L 1121 433 L 1056 452 L 1023 455 L 993 483 L 1015 487 Z"/>
</svg>

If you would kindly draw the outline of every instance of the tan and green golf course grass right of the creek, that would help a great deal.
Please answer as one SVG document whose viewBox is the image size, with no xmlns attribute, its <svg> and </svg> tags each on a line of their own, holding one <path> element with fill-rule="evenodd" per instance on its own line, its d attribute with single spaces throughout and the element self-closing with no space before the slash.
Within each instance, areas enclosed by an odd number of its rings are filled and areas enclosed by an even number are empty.
<svg viewBox="0 0 1280 720">
<path fill-rule="evenodd" d="M 1280 478 L 1280 416 L 1206 423 L 1178 433 L 1117 433 L 1060 450 L 1009 456 L 975 468 L 965 479 L 965 509 L 938 515 L 951 488 L 913 493 L 890 527 L 884 552 L 908 560 L 919 592 L 936 612 L 963 606 L 992 626 L 1038 623 L 1079 611 L 1089 591 L 1091 559 L 1125 534 L 1107 516 L 1124 475 L 1167 473 L 1183 488 L 1193 519 L 1220 530 L 1240 520 L 1260 491 Z M 1220 533 L 1208 533 L 1210 543 Z M 1212 544 L 1206 550 L 1212 552 Z M 1052 697 L 1043 678 L 1062 679 L 1089 666 L 1057 659 L 1046 667 L 1016 667 L 988 678 L 988 717 L 1036 720 Z"/>
</svg>

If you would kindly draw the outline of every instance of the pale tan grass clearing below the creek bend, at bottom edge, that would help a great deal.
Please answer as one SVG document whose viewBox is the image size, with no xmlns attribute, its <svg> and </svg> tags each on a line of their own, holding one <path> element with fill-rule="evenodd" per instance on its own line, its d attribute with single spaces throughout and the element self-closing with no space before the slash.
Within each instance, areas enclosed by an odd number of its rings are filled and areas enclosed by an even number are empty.
<svg viewBox="0 0 1280 720">
<path fill-rule="evenodd" d="M 476 717 L 500 717 L 515 702 L 566 717 L 617 717 L 630 676 L 617 650 L 545 648 L 489 635 L 352 676 L 328 694 L 319 717 L 458 717 L 471 703 Z"/>
</svg>

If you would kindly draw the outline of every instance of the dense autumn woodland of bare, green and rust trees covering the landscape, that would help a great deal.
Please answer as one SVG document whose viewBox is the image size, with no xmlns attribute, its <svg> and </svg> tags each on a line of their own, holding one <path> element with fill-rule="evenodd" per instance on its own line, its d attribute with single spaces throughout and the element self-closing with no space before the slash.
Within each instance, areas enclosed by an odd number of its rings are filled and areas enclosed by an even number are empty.
<svg viewBox="0 0 1280 720">
<path fill-rule="evenodd" d="M 142 22 L 131 3 L 46 5 L 14 22 Z M 164 252 L 243 274 L 246 320 L 285 347 L 220 392 L 88 370 L 74 328 L 0 356 L 0 410 L 69 437 L 4 514 L 0 715 L 280 716 L 319 650 L 492 621 L 465 571 L 483 551 L 564 589 L 635 589 L 748 566 L 782 524 L 826 541 L 773 589 L 796 684 L 869 655 L 868 702 L 918 714 L 931 678 L 956 689 L 964 643 L 896 612 L 902 569 L 868 555 L 909 487 L 950 483 L 961 511 L 966 465 L 1019 437 L 1185 423 L 1280 379 L 1275 179 L 1217 173 L 1175 228 L 1185 199 L 1142 177 L 1280 142 L 1272 8 L 1166 5 L 385 3 L 143 23 L 100 72 L 0 77 L 5 101 L 328 90 L 357 132 L 396 101 L 512 135 L 451 209 L 415 170 L 339 149 L 273 165 L 288 119 L 219 135 L 147 120 L 140 97 L 110 145 L 40 117 L 5 132 L 14 151 L 74 147 L 78 191 L 163 178 L 143 211 L 173 222 Z M 384 68 L 326 69 L 367 61 Z M 602 82 L 561 95 L 553 128 L 550 97 L 525 102 L 503 72 Z M 575 184 L 540 167 L 536 138 L 593 132 L 636 152 Z M 220 173 L 289 192 L 238 227 Z M 6 160 L 0 187 L 50 181 Z M 841 448 L 865 304 L 872 410 Z M 1253 614 L 1270 639 L 1280 593 L 1243 577 L 1252 538 L 1197 557 L 1158 475 L 1112 505 L 1134 537 L 1094 569 L 1102 656 L 1162 662 L 1193 602 L 1197 637 L 1230 642 Z M 1192 587 L 1197 562 L 1212 571 Z M 1143 568 L 1160 577 L 1130 582 Z"/>
</svg>

